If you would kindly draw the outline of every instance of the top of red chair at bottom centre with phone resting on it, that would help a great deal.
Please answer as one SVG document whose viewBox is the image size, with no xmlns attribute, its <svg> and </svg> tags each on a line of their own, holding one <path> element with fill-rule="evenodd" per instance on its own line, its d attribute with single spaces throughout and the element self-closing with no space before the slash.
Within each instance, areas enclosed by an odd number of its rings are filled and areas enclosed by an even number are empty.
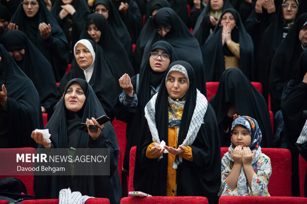
<svg viewBox="0 0 307 204">
<path fill-rule="evenodd" d="M 208 204 L 208 200 L 200 196 L 125 197 L 121 199 L 120 204 Z"/>
</svg>

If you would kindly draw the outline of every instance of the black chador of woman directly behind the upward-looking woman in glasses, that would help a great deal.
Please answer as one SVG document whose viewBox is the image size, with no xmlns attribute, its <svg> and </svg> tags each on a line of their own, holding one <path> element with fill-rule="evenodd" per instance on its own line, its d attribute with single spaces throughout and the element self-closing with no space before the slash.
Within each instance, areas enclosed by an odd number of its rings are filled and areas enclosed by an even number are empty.
<svg viewBox="0 0 307 204">
<path fill-rule="evenodd" d="M 150 52 L 154 42 L 159 40 L 167 41 L 174 47 L 178 59 L 185 60 L 192 65 L 197 76 L 197 88 L 206 95 L 205 73 L 201 49 L 199 43 L 193 37 L 189 29 L 171 8 L 159 9 L 154 16 L 153 24 L 155 28 L 158 28 L 160 25 L 171 26 L 171 30 L 164 38 L 157 32 L 153 32 L 144 49 L 144 53 L 139 57 L 148 57 L 147 54 Z"/>
</svg>

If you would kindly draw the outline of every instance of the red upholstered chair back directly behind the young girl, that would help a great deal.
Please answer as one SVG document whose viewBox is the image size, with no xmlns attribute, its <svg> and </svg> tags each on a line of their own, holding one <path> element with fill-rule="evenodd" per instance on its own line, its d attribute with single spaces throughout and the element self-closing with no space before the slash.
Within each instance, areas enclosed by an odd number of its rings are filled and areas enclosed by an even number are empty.
<svg viewBox="0 0 307 204">
<path fill-rule="evenodd" d="M 261 148 L 263 154 L 271 159 L 272 174 L 268 184 L 271 196 L 292 196 L 291 190 L 291 153 L 287 149 Z M 228 147 L 221 147 L 221 157 Z"/>
</svg>

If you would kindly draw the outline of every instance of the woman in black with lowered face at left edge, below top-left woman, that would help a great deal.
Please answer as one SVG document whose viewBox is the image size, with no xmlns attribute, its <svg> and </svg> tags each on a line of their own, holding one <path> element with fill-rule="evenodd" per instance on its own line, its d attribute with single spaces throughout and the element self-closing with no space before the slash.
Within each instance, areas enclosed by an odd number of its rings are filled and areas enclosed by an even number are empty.
<svg viewBox="0 0 307 204">
<path fill-rule="evenodd" d="M 20 69 L 37 89 L 43 113 L 48 113 L 55 99 L 56 83 L 51 64 L 21 31 L 10 31 L 0 39 Z"/>
</svg>

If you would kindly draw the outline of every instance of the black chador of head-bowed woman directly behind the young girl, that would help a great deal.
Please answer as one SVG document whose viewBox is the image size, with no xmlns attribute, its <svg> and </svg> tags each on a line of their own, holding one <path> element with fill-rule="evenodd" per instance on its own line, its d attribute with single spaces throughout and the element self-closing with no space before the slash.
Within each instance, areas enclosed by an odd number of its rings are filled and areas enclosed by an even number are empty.
<svg viewBox="0 0 307 204">
<path fill-rule="evenodd" d="M 229 105 L 233 105 L 238 115 L 250 116 L 258 122 L 262 132 L 260 146 L 273 146 L 272 127 L 266 102 L 241 70 L 229 68 L 223 73 L 216 94 L 210 99 L 210 104 L 216 114 L 220 137 L 223 132 L 220 124 L 228 113 Z M 226 139 L 229 139 L 229 146 L 230 138 Z M 225 138 L 220 138 L 221 143 L 224 140 Z"/>
</svg>

